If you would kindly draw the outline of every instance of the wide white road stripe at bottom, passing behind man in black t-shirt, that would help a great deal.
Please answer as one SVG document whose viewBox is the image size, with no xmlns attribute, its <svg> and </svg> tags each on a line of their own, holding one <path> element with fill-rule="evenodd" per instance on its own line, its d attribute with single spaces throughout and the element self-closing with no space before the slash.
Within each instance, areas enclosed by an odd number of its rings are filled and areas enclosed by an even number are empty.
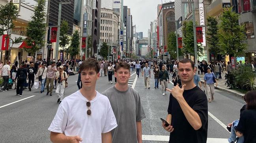
<svg viewBox="0 0 256 143">
<path fill-rule="evenodd" d="M 143 141 L 169 141 L 169 136 L 142 135 Z M 228 143 L 228 139 L 207 138 L 207 143 Z"/>
</svg>

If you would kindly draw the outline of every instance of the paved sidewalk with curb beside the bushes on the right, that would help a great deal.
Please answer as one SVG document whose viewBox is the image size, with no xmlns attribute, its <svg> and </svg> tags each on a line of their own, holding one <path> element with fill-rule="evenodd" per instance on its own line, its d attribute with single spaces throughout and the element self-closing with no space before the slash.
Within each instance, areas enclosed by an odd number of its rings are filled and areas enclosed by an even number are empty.
<svg viewBox="0 0 256 143">
<path fill-rule="evenodd" d="M 200 74 L 199 76 L 200 76 L 201 82 L 204 83 L 204 75 Z M 227 87 L 227 85 L 225 85 L 225 83 L 226 83 L 225 74 L 221 74 L 221 77 L 222 77 L 222 79 L 217 80 L 218 87 L 215 86 L 215 89 L 219 89 L 221 91 L 231 93 L 234 96 L 243 98 L 243 96 L 245 95 L 244 93 L 239 92 L 239 91 L 235 91 L 233 89 L 229 89 L 229 87 Z"/>
</svg>

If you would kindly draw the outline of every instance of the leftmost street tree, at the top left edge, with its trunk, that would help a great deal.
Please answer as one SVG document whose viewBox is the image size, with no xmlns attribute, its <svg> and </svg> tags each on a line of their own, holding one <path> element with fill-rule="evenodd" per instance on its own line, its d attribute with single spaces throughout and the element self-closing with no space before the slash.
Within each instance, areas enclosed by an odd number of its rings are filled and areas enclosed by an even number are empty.
<svg viewBox="0 0 256 143">
<path fill-rule="evenodd" d="M 11 29 L 13 29 L 15 27 L 15 25 L 13 24 L 13 20 L 16 20 L 16 18 L 18 18 L 19 15 L 19 11 L 18 11 L 18 7 L 17 5 L 14 5 L 13 2 L 9 2 L 6 5 L 0 5 L 0 25 L 2 25 L 2 28 L 0 28 L 0 36 L 3 34 L 7 34 L 7 36 L 5 37 L 5 41 L 7 41 L 8 38 L 10 38 L 11 35 Z M 10 53 L 11 53 L 11 49 L 9 49 L 9 46 L 7 47 L 7 42 L 5 43 L 5 58 L 7 57 L 7 60 L 9 61 L 10 59 Z M 7 51 L 8 54 L 7 54 Z M 4 60 L 4 64 L 6 63 L 6 60 Z"/>
</svg>

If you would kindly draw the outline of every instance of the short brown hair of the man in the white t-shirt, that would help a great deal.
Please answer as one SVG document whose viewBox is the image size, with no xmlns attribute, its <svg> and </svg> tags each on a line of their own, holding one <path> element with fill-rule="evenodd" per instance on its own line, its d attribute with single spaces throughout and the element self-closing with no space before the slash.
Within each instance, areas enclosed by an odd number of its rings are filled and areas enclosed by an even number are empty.
<svg viewBox="0 0 256 143">
<path fill-rule="evenodd" d="M 85 69 L 95 69 L 96 73 L 99 73 L 99 70 L 101 69 L 101 65 L 97 60 L 94 58 L 88 58 L 82 64 L 80 65 L 79 72 L 82 72 Z"/>
</svg>

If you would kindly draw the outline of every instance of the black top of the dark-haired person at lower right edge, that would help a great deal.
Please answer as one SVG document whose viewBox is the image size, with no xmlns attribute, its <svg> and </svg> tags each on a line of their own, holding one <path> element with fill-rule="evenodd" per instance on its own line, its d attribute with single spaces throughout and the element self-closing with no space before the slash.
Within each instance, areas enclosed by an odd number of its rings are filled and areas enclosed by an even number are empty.
<svg viewBox="0 0 256 143">
<path fill-rule="evenodd" d="M 236 130 L 243 133 L 244 143 L 256 143 L 256 109 L 244 110 L 240 116 Z"/>
</svg>

